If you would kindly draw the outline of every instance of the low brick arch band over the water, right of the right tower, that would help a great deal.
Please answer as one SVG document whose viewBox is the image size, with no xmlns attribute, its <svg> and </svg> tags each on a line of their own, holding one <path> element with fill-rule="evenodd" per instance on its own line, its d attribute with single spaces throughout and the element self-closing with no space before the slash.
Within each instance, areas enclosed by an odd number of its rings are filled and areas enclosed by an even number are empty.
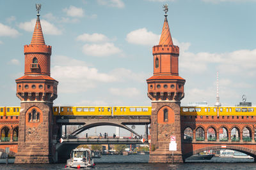
<svg viewBox="0 0 256 170">
<path fill-rule="evenodd" d="M 183 159 L 187 159 L 188 157 L 191 157 L 192 155 L 196 155 L 200 152 L 204 152 L 205 150 L 219 150 L 219 149 L 221 149 L 221 145 L 207 146 L 207 147 L 204 147 L 204 148 L 193 150 L 193 152 L 186 153 L 185 155 L 183 155 Z M 228 150 L 236 150 L 238 152 L 245 153 L 247 155 L 250 155 L 254 159 L 256 159 L 256 150 L 252 150 L 250 148 L 245 148 L 245 147 L 236 146 L 236 145 L 228 145 L 227 149 Z"/>
</svg>

